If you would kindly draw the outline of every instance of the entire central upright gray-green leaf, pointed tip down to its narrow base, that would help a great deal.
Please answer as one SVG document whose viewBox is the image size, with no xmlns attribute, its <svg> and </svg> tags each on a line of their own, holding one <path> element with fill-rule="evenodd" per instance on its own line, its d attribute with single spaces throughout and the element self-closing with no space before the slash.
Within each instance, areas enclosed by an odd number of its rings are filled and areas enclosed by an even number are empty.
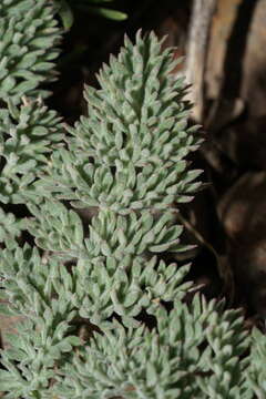
<svg viewBox="0 0 266 399">
<path fill-rule="evenodd" d="M 100 73 L 102 88 L 88 96 L 89 116 L 70 129 L 69 149 L 53 152 L 35 185 L 53 204 L 31 207 L 38 221 L 29 228 L 37 245 L 75 259 L 85 295 L 81 316 L 98 325 L 113 313 L 135 325 L 154 299 L 177 295 L 177 267 L 151 258 L 185 249 L 174 212 L 162 211 L 190 201 L 200 185 L 200 172 L 187 171 L 184 160 L 200 140 L 187 127 L 183 82 L 170 74 L 174 65 L 154 34 L 139 34 L 135 47 L 126 39 L 119 59 Z M 89 237 L 54 198 L 96 207 Z"/>
</svg>

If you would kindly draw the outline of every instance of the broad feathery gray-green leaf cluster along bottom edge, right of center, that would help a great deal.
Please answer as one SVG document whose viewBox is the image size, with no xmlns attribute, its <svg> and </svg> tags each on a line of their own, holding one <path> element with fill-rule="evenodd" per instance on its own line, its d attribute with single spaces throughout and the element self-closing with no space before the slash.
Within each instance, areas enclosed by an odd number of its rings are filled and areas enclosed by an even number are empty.
<svg viewBox="0 0 266 399">
<path fill-rule="evenodd" d="M 79 350 L 63 367 L 61 397 L 242 398 L 245 366 L 232 356 L 246 349 L 239 313 L 222 316 L 222 304 L 198 296 L 190 307 L 177 301 L 168 315 L 154 308 L 157 330 L 115 324 Z"/>
</svg>

